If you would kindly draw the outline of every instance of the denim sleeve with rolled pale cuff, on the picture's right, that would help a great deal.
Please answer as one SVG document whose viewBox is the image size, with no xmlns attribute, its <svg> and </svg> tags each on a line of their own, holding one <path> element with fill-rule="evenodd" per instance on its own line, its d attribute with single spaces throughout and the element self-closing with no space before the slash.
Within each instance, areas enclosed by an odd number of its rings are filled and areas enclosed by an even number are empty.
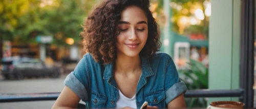
<svg viewBox="0 0 256 109">
<path fill-rule="evenodd" d="M 171 57 L 168 59 L 165 73 L 165 103 L 173 101 L 180 94 L 187 90 L 184 82 L 180 81 L 178 71 L 175 67 L 174 61 Z"/>
</svg>

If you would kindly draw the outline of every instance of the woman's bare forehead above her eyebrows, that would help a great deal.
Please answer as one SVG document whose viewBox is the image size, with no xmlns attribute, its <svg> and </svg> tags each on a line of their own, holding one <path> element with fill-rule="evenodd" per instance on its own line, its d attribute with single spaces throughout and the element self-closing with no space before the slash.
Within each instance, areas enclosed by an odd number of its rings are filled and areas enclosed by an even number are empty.
<svg viewBox="0 0 256 109">
<path fill-rule="evenodd" d="M 121 19 L 122 21 L 129 21 L 131 24 L 137 23 L 138 21 L 146 21 L 147 22 L 147 17 L 145 12 L 140 9 L 137 6 L 130 6 L 125 8 L 121 12 Z"/>
</svg>

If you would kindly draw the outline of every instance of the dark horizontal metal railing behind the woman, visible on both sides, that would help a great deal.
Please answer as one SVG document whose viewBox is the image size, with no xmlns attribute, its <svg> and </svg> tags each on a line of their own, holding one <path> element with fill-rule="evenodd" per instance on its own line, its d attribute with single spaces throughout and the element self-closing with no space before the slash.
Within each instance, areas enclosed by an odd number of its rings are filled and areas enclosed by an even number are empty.
<svg viewBox="0 0 256 109">
<path fill-rule="evenodd" d="M 33 93 L 33 94 L 0 94 L 2 102 L 44 101 L 56 100 L 60 93 Z M 243 97 L 243 90 L 190 90 L 185 98 L 199 97 Z"/>
</svg>

